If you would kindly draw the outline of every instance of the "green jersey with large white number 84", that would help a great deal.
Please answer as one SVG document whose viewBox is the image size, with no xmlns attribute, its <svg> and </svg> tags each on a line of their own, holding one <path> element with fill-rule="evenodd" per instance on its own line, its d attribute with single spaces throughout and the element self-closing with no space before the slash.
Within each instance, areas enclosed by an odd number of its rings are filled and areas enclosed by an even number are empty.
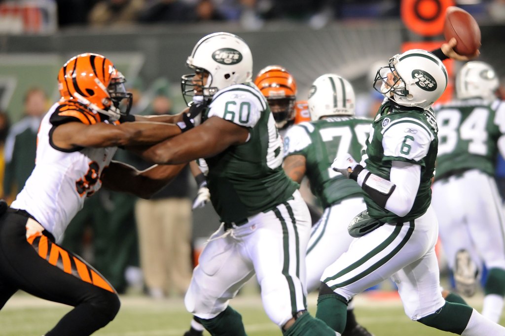
<svg viewBox="0 0 505 336">
<path fill-rule="evenodd" d="M 435 179 L 478 169 L 494 175 L 497 142 L 505 133 L 505 104 L 465 99 L 435 110 L 438 123 L 438 156 Z"/>
</svg>

